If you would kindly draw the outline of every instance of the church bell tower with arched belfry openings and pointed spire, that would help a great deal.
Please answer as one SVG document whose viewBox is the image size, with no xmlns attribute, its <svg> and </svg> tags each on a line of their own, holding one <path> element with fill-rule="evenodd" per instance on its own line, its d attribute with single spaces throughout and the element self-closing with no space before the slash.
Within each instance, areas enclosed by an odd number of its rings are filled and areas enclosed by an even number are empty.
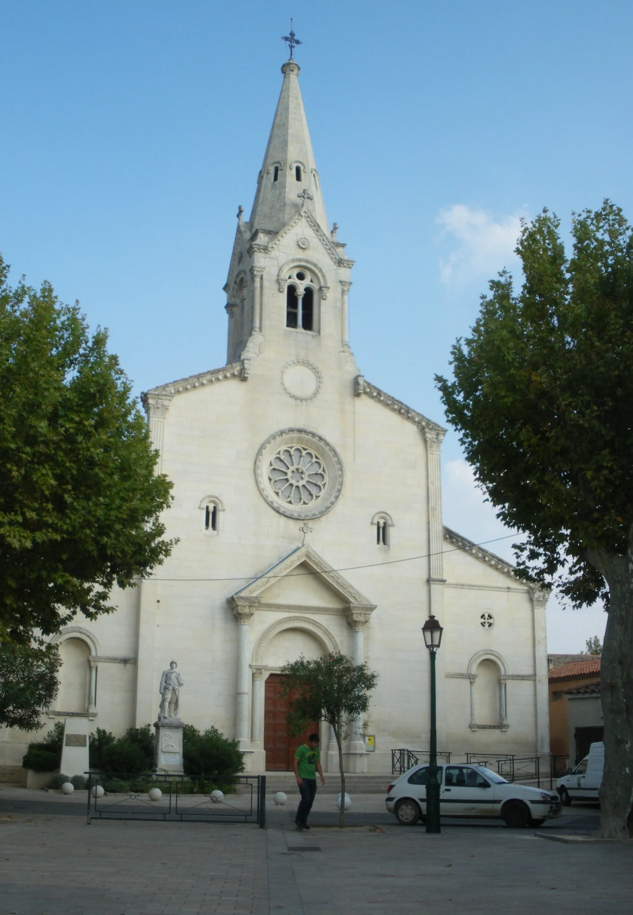
<svg viewBox="0 0 633 915">
<path fill-rule="evenodd" d="M 295 41 L 295 44 L 298 43 Z M 307 127 L 299 65 L 284 81 L 257 178 L 248 221 L 238 227 L 224 290 L 229 315 L 227 363 L 266 357 L 331 363 L 348 342 L 353 261 L 328 229 L 326 206 Z M 353 361 L 353 357 L 352 357 Z M 248 374 L 249 369 L 247 369 Z"/>
</svg>

